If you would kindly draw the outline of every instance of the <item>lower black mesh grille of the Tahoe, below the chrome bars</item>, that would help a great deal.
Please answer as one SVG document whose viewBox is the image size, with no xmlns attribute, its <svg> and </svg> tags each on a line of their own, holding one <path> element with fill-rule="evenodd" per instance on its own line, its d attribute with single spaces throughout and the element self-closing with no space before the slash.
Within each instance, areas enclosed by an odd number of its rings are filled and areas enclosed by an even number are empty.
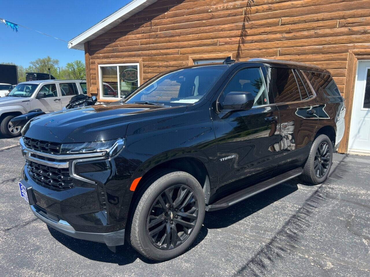
<svg viewBox="0 0 370 277">
<path fill-rule="evenodd" d="M 70 176 L 68 168 L 55 168 L 27 161 L 27 170 L 33 181 L 43 187 L 52 189 L 73 188 L 73 178 Z"/>
</svg>

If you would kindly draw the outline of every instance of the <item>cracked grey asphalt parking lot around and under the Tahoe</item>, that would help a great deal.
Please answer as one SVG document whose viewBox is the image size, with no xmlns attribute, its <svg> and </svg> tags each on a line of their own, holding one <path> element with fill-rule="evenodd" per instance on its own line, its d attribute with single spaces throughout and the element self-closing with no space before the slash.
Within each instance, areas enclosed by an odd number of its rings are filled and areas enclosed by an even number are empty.
<svg viewBox="0 0 370 277">
<path fill-rule="evenodd" d="M 335 154 L 322 185 L 293 179 L 208 212 L 188 252 L 156 263 L 36 219 L 17 141 L 0 139 L 0 276 L 370 276 L 370 157 Z"/>
</svg>

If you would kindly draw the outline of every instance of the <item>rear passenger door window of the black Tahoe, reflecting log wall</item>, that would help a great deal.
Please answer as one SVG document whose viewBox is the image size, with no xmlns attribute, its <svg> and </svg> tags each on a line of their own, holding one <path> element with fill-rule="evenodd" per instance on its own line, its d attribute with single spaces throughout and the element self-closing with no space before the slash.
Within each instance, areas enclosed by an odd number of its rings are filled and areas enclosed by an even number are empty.
<svg viewBox="0 0 370 277">
<path fill-rule="evenodd" d="M 271 68 L 270 85 L 275 103 L 300 101 L 301 96 L 292 69 Z"/>
</svg>

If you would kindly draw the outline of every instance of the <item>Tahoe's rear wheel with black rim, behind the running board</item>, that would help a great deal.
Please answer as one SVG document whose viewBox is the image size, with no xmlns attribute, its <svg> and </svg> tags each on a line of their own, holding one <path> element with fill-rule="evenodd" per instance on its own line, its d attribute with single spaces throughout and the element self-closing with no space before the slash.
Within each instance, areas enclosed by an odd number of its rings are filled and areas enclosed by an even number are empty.
<svg viewBox="0 0 370 277">
<path fill-rule="evenodd" d="M 326 181 L 333 161 L 333 145 L 324 134 L 318 136 L 311 146 L 310 154 L 303 166 L 303 181 L 321 184 Z"/>
</svg>

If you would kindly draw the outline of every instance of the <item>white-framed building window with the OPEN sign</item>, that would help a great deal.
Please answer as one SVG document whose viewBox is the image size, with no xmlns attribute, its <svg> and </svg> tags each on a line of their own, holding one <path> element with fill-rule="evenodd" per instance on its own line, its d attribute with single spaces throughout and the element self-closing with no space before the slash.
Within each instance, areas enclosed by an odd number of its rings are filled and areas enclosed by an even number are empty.
<svg viewBox="0 0 370 277">
<path fill-rule="evenodd" d="M 99 65 L 101 99 L 121 99 L 136 89 L 139 64 Z"/>
</svg>

